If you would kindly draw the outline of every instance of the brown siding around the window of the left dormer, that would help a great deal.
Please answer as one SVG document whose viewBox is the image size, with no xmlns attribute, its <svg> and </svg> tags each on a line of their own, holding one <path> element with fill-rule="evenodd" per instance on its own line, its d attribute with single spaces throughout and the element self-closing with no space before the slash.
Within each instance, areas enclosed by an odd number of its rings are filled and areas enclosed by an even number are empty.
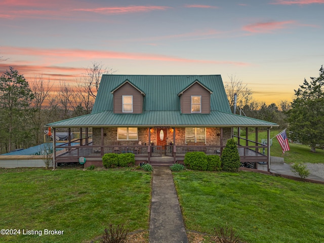
<svg viewBox="0 0 324 243">
<path fill-rule="evenodd" d="M 129 83 L 125 83 L 113 92 L 113 112 L 123 113 L 123 95 L 133 96 L 133 113 L 142 113 L 143 95 Z"/>
</svg>

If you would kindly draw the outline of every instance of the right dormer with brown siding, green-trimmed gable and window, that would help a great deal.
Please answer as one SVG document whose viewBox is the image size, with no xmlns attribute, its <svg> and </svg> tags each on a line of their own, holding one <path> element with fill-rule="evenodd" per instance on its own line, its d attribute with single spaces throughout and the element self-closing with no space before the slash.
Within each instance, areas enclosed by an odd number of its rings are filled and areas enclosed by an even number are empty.
<svg viewBox="0 0 324 243">
<path fill-rule="evenodd" d="M 213 91 L 196 79 L 178 94 L 181 113 L 209 114 L 211 112 L 211 94 Z"/>
</svg>

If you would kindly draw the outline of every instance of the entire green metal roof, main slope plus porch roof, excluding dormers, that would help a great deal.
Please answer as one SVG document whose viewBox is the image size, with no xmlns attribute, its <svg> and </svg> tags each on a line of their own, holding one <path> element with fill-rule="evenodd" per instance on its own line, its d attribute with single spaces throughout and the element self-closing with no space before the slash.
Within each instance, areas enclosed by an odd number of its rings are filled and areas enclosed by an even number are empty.
<svg viewBox="0 0 324 243">
<path fill-rule="evenodd" d="M 125 82 L 145 94 L 142 114 L 113 113 L 113 92 Z M 211 92 L 210 114 L 183 114 L 178 94 L 198 82 Z M 207 88 L 208 87 L 208 88 Z M 220 75 L 103 75 L 91 114 L 57 121 L 48 127 L 271 127 L 231 113 Z"/>
</svg>

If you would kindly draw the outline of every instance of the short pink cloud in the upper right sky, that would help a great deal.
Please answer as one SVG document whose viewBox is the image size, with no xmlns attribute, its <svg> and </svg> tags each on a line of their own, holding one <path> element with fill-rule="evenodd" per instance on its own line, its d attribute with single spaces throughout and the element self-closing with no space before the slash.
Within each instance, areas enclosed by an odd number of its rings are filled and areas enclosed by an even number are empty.
<svg viewBox="0 0 324 243">
<path fill-rule="evenodd" d="M 276 29 L 285 29 L 288 25 L 295 24 L 295 21 L 281 21 L 281 22 L 263 22 L 249 24 L 242 27 L 243 30 L 252 32 L 252 33 L 269 33 Z"/>
</svg>

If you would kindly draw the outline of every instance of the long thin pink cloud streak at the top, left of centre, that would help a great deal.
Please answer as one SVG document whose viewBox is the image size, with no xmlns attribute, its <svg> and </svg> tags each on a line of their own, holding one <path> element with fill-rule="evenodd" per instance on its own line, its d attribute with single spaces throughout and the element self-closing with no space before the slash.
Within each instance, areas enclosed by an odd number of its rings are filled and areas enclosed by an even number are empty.
<svg viewBox="0 0 324 243">
<path fill-rule="evenodd" d="M 171 7 L 165 6 L 127 6 L 127 7 L 107 7 L 107 8 L 87 8 L 73 9 L 72 11 L 94 12 L 100 14 L 126 14 L 136 12 L 149 12 L 154 10 L 167 10 Z"/>
</svg>

